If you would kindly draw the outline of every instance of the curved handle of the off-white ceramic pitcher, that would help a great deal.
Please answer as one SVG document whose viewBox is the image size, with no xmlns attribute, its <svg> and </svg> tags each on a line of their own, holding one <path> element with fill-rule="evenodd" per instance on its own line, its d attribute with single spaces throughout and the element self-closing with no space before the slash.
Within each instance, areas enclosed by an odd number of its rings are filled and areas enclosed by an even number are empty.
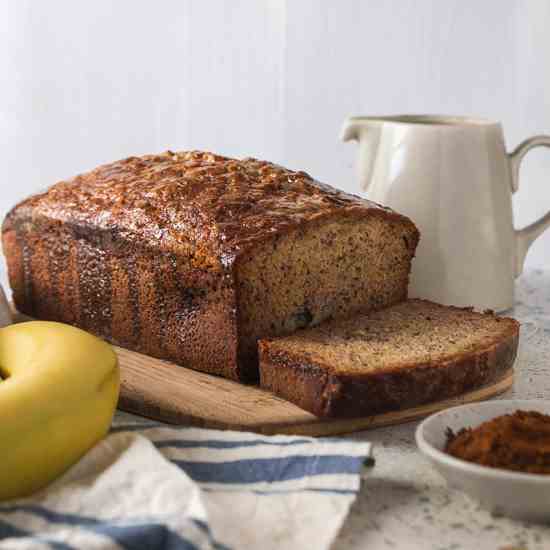
<svg viewBox="0 0 550 550">
<path fill-rule="evenodd" d="M 533 136 L 520 143 L 512 153 L 509 154 L 512 168 L 512 193 L 519 189 L 519 167 L 526 153 L 534 147 L 549 147 L 550 136 Z M 525 256 L 533 241 L 550 227 L 550 212 L 532 224 L 516 231 L 516 277 L 523 271 Z"/>
</svg>

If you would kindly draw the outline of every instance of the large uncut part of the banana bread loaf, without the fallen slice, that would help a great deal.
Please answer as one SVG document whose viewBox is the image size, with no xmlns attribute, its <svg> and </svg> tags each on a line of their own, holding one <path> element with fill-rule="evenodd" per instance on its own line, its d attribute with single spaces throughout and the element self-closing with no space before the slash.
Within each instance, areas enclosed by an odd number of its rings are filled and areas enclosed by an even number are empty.
<svg viewBox="0 0 550 550">
<path fill-rule="evenodd" d="M 418 242 L 304 172 L 170 151 L 54 185 L 2 236 L 23 313 L 245 381 L 258 338 L 405 299 Z"/>
</svg>

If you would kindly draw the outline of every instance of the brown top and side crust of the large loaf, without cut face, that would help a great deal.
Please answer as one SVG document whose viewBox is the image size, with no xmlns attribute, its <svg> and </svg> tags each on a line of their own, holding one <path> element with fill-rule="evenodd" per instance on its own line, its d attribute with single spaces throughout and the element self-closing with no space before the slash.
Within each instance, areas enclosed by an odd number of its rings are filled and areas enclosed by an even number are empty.
<svg viewBox="0 0 550 550">
<path fill-rule="evenodd" d="M 274 235 L 388 208 L 255 159 L 131 157 L 18 204 L 2 226 L 16 307 L 116 344 L 241 381 L 239 262 Z M 406 281 L 403 282 L 406 289 Z M 405 290 L 406 291 L 406 290 Z"/>
</svg>

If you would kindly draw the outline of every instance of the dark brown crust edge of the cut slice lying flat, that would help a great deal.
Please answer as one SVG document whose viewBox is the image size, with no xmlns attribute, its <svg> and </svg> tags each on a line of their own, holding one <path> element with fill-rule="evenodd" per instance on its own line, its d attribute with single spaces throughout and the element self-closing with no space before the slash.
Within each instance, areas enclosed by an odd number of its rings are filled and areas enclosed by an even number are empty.
<svg viewBox="0 0 550 550">
<path fill-rule="evenodd" d="M 454 354 L 444 363 L 353 374 L 302 362 L 261 340 L 260 385 L 321 418 L 369 416 L 441 401 L 494 382 L 513 366 L 519 323 L 511 318 L 500 322 L 506 326 L 502 338 L 476 352 Z"/>
</svg>

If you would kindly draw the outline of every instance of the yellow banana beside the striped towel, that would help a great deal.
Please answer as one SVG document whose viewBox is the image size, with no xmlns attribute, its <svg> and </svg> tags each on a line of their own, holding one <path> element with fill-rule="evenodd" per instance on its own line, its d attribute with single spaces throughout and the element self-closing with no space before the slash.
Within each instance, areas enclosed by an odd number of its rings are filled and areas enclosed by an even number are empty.
<svg viewBox="0 0 550 550">
<path fill-rule="evenodd" d="M 109 430 L 120 373 L 111 346 L 62 323 L 0 329 L 0 500 L 44 487 Z"/>
</svg>

